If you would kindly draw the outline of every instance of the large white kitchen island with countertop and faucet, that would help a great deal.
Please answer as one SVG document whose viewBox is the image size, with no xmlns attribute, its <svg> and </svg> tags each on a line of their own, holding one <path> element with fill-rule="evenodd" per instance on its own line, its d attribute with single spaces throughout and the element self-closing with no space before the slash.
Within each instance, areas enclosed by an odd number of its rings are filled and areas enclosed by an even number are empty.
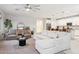
<svg viewBox="0 0 79 59">
<path fill-rule="evenodd" d="M 33 36 L 35 48 L 42 54 L 58 53 L 70 48 L 71 33 L 44 31 Z"/>
</svg>

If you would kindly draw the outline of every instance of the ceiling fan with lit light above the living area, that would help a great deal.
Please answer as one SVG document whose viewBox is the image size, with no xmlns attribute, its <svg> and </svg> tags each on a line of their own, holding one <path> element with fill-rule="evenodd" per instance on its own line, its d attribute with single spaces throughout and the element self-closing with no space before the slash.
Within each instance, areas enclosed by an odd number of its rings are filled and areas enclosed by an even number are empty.
<svg viewBox="0 0 79 59">
<path fill-rule="evenodd" d="M 34 11 L 36 12 L 37 10 L 40 10 L 40 5 L 37 5 L 37 4 L 25 4 L 23 6 L 23 8 L 16 8 L 16 10 L 23 10 L 23 11 Z"/>
</svg>

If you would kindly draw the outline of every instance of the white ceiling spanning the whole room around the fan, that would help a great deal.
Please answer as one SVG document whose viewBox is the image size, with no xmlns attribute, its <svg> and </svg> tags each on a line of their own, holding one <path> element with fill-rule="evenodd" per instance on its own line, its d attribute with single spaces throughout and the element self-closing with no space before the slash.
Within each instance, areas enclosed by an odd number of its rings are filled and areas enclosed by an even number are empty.
<svg viewBox="0 0 79 59">
<path fill-rule="evenodd" d="M 34 11 L 16 11 L 16 8 L 23 9 L 24 4 L 0 4 L 0 9 L 3 10 L 5 14 L 12 15 L 29 15 L 35 17 L 52 17 L 53 15 L 71 15 L 79 13 L 79 5 L 78 4 L 40 4 L 40 10 Z M 64 13 L 63 13 L 64 11 Z"/>
</svg>

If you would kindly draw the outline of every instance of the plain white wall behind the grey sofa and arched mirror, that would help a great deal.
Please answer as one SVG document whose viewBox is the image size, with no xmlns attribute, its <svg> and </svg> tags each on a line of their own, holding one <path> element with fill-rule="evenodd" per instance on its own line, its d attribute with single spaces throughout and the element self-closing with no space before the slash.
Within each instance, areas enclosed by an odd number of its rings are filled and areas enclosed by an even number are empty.
<svg viewBox="0 0 79 59">
<path fill-rule="evenodd" d="M 18 23 L 24 23 L 25 26 L 29 26 L 31 30 L 35 30 L 36 18 L 31 16 L 19 16 L 19 15 L 6 15 L 6 18 L 11 19 L 13 23 L 13 29 L 17 28 Z"/>
</svg>

